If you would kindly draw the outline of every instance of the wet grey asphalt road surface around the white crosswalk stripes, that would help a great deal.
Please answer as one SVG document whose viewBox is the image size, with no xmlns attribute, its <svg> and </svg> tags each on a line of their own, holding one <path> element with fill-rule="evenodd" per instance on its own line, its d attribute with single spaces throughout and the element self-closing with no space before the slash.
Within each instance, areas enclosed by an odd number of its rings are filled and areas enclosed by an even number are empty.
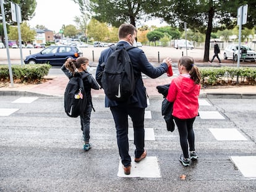
<svg viewBox="0 0 256 192">
<path fill-rule="evenodd" d="M 145 128 L 153 128 L 155 140 L 145 141 L 145 148 L 148 157 L 158 158 L 161 177 L 125 178 L 117 177 L 116 132 L 104 99 L 93 98 L 93 147 L 84 152 L 80 120 L 67 117 L 63 98 L 13 102 L 19 98 L 0 96 L 0 108 L 19 109 L 0 116 L 0 191 L 256 191 L 256 178 L 245 177 L 231 161 L 231 156 L 256 156 L 255 99 L 205 100 L 210 105 L 200 105 L 200 111 L 219 112 L 224 119 L 197 117 L 195 144 L 200 157 L 183 167 L 178 161 L 177 128 L 173 133 L 166 130 L 162 100 L 150 98 L 146 110 L 151 119 L 145 119 Z M 210 131 L 216 128 L 236 128 L 246 140 L 216 140 Z M 132 141 L 130 155 L 134 156 Z"/>
</svg>

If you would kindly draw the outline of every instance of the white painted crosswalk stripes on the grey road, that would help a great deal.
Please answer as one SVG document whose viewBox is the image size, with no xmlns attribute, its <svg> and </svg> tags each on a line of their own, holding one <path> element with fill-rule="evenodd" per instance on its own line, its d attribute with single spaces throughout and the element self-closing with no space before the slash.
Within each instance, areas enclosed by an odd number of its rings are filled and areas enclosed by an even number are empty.
<svg viewBox="0 0 256 192">
<path fill-rule="evenodd" d="M 32 104 L 40 98 L 37 97 L 20 97 L 11 101 L 13 104 Z M 208 102 L 208 99 L 199 99 L 200 108 L 211 107 L 211 103 Z M 148 106 L 150 106 L 150 99 L 148 99 Z M 203 108 L 204 109 L 204 108 Z M 209 108 L 212 109 L 212 108 Z M 6 117 L 15 112 L 18 112 L 19 108 L 15 107 L 9 109 L 7 107 L 0 107 L 0 118 Z M 225 115 L 221 114 L 219 111 L 203 111 L 200 109 L 200 116 L 197 117 L 201 120 L 225 120 Z M 154 119 L 150 107 L 145 111 L 145 120 Z M 247 141 L 246 136 L 244 136 L 237 128 L 208 128 L 211 135 L 215 138 L 216 141 L 223 142 L 232 142 L 232 141 Z M 129 127 L 129 140 L 134 140 L 133 128 Z M 145 127 L 145 141 L 156 141 L 156 133 L 153 127 Z M 134 157 L 132 157 L 134 159 Z M 242 175 L 246 178 L 256 178 L 256 156 L 230 156 L 229 159 L 236 165 L 240 170 Z M 149 178 L 161 178 L 161 164 L 157 156 L 147 156 L 143 159 L 143 163 L 137 164 L 132 161 L 132 172 L 130 175 L 124 175 L 122 169 L 121 160 L 119 161 L 119 169 L 117 171 L 117 177 L 149 177 Z"/>
</svg>

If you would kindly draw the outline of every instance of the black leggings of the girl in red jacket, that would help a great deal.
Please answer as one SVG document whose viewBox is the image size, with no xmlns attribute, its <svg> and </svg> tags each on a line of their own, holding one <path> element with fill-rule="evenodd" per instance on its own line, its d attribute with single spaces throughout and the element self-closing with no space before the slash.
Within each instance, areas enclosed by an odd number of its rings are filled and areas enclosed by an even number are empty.
<svg viewBox="0 0 256 192">
<path fill-rule="evenodd" d="M 193 123 L 195 117 L 192 119 L 179 119 L 174 117 L 175 123 L 179 130 L 179 142 L 184 158 L 189 158 L 189 151 L 195 151 L 195 134 L 193 130 Z M 189 150 L 188 144 L 189 143 Z"/>
</svg>

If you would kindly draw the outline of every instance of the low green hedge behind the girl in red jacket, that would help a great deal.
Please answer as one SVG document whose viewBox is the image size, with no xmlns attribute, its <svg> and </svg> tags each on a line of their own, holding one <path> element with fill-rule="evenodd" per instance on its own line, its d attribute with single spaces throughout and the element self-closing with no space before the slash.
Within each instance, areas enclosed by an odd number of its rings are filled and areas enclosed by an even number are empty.
<svg viewBox="0 0 256 192">
<path fill-rule="evenodd" d="M 202 85 L 256 85 L 256 67 L 200 68 Z"/>
</svg>

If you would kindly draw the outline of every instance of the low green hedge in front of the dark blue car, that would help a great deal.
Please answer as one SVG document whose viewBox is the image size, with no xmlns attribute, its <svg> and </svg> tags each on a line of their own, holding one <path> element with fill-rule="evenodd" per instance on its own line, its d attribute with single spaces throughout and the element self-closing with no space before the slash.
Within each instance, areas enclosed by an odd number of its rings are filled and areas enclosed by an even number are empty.
<svg viewBox="0 0 256 192">
<path fill-rule="evenodd" d="M 49 64 L 12 65 L 12 77 L 16 83 L 40 81 L 48 75 L 49 69 Z M 0 65 L 0 81 L 10 81 L 8 65 Z"/>
</svg>

